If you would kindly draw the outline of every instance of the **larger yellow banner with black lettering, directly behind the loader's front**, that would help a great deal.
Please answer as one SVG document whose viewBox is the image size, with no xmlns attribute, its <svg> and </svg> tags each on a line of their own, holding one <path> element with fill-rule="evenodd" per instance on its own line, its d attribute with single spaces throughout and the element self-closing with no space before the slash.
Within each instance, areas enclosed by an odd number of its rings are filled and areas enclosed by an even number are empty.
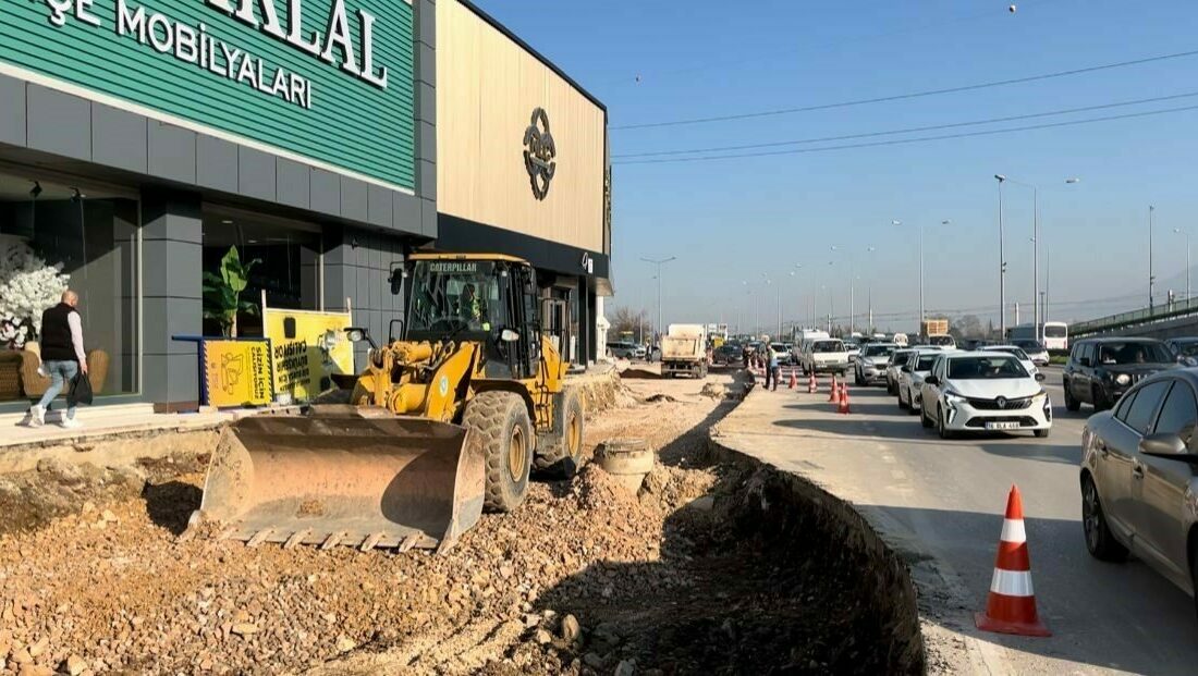
<svg viewBox="0 0 1198 676">
<path fill-rule="evenodd" d="M 353 372 L 353 345 L 345 335 L 349 312 L 277 310 L 262 305 L 277 394 L 288 392 L 296 402 L 311 401 L 333 386 L 333 373 Z"/>
</svg>

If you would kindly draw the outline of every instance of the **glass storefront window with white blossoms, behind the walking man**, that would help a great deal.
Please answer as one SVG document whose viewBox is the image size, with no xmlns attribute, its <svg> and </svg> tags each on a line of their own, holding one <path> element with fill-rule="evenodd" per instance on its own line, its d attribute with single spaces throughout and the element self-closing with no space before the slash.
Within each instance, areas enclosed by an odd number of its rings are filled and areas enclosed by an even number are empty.
<svg viewBox="0 0 1198 676">
<path fill-rule="evenodd" d="M 0 172 L 0 402 L 36 400 L 41 313 L 79 294 L 97 396 L 138 391 L 138 201 L 111 190 Z"/>
</svg>

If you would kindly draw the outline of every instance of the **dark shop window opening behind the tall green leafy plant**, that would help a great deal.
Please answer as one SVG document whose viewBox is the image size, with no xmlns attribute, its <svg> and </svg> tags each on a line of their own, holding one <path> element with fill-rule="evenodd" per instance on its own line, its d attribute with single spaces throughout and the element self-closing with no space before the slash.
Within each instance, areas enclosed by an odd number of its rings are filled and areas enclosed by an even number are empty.
<svg viewBox="0 0 1198 676">
<path fill-rule="evenodd" d="M 228 335 L 231 327 L 219 315 L 222 262 L 236 249 L 248 268 L 242 309 L 236 313 L 236 335 L 261 337 L 262 292 L 271 307 L 321 310 L 320 227 L 272 219 L 250 212 L 218 207 L 204 211 L 204 334 Z M 214 276 L 213 276 L 214 275 Z"/>
</svg>

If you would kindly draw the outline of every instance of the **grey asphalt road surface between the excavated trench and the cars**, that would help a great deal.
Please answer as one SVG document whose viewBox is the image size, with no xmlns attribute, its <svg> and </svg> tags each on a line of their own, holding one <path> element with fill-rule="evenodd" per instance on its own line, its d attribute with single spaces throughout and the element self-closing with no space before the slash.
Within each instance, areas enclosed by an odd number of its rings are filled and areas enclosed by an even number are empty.
<svg viewBox="0 0 1198 676">
<path fill-rule="evenodd" d="M 900 547 L 908 555 L 936 561 L 939 577 L 924 580 L 921 591 L 934 596 L 934 586 L 946 587 L 945 607 L 933 614 L 944 619 L 939 633 L 972 634 L 985 656 L 949 671 L 1196 674 L 1193 601 L 1135 559 L 1103 564 L 1085 550 L 1078 461 L 1093 409 L 1067 413 L 1060 370 L 1046 371 L 1055 418 L 1046 439 L 994 433 L 944 441 L 883 388 L 854 388 L 849 416 L 833 413 L 827 390 L 760 392 L 721 428 L 872 512 L 891 541 L 910 544 Z M 1023 494 L 1040 615 L 1054 632 L 1048 639 L 969 626 L 973 610 L 985 608 L 1012 485 Z"/>
</svg>

